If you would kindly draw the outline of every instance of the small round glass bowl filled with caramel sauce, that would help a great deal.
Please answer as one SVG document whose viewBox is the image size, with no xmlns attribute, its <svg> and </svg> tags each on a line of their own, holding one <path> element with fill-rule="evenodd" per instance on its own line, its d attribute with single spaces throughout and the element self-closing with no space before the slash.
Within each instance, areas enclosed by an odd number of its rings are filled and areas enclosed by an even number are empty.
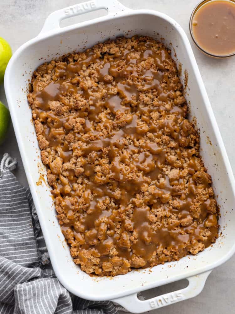
<svg viewBox="0 0 235 314">
<path fill-rule="evenodd" d="M 200 2 L 189 26 L 194 43 L 205 54 L 219 58 L 235 54 L 235 1 Z"/>
</svg>

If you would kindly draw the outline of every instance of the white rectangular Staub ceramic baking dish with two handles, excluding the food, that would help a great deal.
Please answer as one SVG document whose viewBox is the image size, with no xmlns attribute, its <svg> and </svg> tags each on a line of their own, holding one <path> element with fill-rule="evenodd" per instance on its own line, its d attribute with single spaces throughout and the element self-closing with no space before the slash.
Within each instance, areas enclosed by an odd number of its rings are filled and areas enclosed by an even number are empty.
<svg viewBox="0 0 235 314">
<path fill-rule="evenodd" d="M 60 21 L 97 9 L 107 15 L 60 28 Z M 212 175 L 220 206 L 222 236 L 195 257 L 151 269 L 133 270 L 112 278 L 90 277 L 75 265 L 56 219 L 50 187 L 42 180 L 46 174 L 32 123 L 27 91 L 32 71 L 41 63 L 71 51 L 84 50 L 98 41 L 116 36 L 149 35 L 171 48 L 181 69 L 182 82 L 191 119 L 201 134 L 201 155 Z M 184 81 L 184 74 L 187 79 Z M 187 81 L 187 82 L 186 82 Z M 150 10 L 131 10 L 117 1 L 92 0 L 58 10 L 46 19 L 41 33 L 21 46 L 11 58 L 5 73 L 5 92 L 24 169 L 37 209 L 55 274 L 70 292 L 89 300 L 114 300 L 131 312 L 140 313 L 191 298 L 201 292 L 211 270 L 227 261 L 235 251 L 234 177 L 222 138 L 212 112 L 195 57 L 185 32 L 169 16 Z M 232 131 L 232 130 L 231 130 Z M 174 266 L 174 267 L 173 267 Z M 137 298 L 139 291 L 179 279 L 188 279 L 182 290 L 150 300 Z"/>
</svg>

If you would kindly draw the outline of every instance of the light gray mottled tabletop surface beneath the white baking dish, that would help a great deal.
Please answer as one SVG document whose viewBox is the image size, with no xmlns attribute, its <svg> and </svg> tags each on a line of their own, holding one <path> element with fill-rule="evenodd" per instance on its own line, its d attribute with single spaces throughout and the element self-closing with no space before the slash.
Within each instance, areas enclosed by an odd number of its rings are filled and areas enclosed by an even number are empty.
<svg viewBox="0 0 235 314">
<path fill-rule="evenodd" d="M 15 51 L 25 41 L 40 32 L 45 18 L 53 11 L 69 5 L 81 3 L 79 0 L 0 0 L 0 36 L 4 37 Z M 235 57 L 219 60 L 207 57 L 197 50 L 189 33 L 189 19 L 198 0 L 121 0 L 123 5 L 133 9 L 158 10 L 175 19 L 190 39 L 201 76 L 211 101 L 211 105 L 224 140 L 232 170 L 235 171 L 234 154 L 234 116 Z M 89 18 L 96 17 L 90 14 Z M 78 23 L 86 17 L 73 18 Z M 67 23 L 67 22 L 66 22 Z M 6 104 L 3 85 L 0 86 L 0 100 Z M 27 185 L 27 179 L 18 151 L 13 127 L 11 126 L 6 142 L 0 147 L 0 158 L 8 152 L 17 157 L 18 169 L 15 175 Z M 183 283 L 184 284 L 184 283 Z M 165 292 L 177 290 L 182 283 L 172 283 L 146 292 L 145 297 L 154 297 Z M 235 306 L 235 256 L 227 263 L 214 269 L 206 281 L 205 287 L 197 297 L 153 310 L 154 314 L 221 314 L 234 313 Z"/>
</svg>

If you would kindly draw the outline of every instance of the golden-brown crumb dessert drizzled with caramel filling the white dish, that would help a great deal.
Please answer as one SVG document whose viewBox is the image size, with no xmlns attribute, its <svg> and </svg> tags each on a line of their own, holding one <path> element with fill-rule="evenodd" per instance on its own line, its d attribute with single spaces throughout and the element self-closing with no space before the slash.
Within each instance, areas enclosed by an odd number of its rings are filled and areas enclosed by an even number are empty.
<svg viewBox="0 0 235 314">
<path fill-rule="evenodd" d="M 70 253 L 125 274 L 216 241 L 218 210 L 170 50 L 120 37 L 33 74 L 41 157 Z"/>
</svg>

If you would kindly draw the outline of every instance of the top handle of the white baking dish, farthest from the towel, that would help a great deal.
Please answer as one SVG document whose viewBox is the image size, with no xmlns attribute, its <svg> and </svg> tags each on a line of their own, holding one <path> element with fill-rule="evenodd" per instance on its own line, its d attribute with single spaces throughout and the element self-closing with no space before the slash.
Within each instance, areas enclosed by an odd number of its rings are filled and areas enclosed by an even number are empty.
<svg viewBox="0 0 235 314">
<path fill-rule="evenodd" d="M 124 7 L 117 0 L 92 0 L 71 5 L 70 7 L 52 12 L 45 20 L 43 29 L 41 30 L 39 35 L 50 30 L 60 28 L 60 21 L 62 21 L 63 19 L 67 19 L 76 15 L 85 14 L 88 12 L 93 12 L 100 9 L 107 10 L 109 15 L 113 14 L 116 15 L 118 12 L 122 12 L 124 9 L 127 8 Z"/>
</svg>

